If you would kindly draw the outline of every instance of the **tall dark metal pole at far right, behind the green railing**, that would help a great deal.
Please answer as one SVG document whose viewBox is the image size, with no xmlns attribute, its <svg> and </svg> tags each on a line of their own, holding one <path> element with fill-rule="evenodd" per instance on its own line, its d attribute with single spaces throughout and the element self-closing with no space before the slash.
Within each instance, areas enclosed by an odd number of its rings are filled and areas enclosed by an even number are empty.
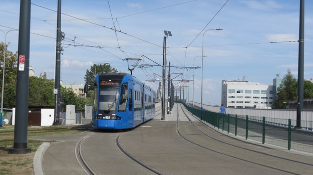
<svg viewBox="0 0 313 175">
<path fill-rule="evenodd" d="M 296 108 L 296 127 L 301 127 L 301 111 L 303 109 L 303 70 L 304 70 L 304 0 L 300 0 L 299 18 L 299 58 L 298 58 L 298 105 Z"/>
</svg>

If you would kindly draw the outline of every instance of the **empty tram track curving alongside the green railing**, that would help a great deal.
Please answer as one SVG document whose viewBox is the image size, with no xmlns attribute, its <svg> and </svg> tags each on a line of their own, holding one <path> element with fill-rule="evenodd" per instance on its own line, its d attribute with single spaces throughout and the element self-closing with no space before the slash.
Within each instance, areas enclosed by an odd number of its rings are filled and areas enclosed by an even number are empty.
<svg viewBox="0 0 313 175">
<path fill-rule="evenodd" d="M 217 142 L 220 142 L 222 144 L 225 144 L 227 146 L 231 146 L 231 147 L 235 147 L 235 148 L 239 148 L 241 150 L 244 150 L 244 151 L 250 151 L 250 152 L 253 152 L 253 153 L 256 153 L 256 154 L 260 154 L 260 155 L 264 155 L 264 156 L 268 156 L 268 157 L 271 157 L 271 158 L 274 158 L 274 159 L 280 159 L 281 161 L 288 161 L 288 162 L 292 162 L 292 163 L 295 163 L 295 164 L 299 164 L 299 165 L 303 165 L 303 166 L 308 166 L 308 167 L 311 167 L 313 168 L 313 164 L 311 163 L 306 163 L 306 162 L 301 162 L 301 161 L 295 161 L 295 160 L 292 160 L 292 159 L 288 159 L 288 158 L 283 158 L 283 157 L 279 157 L 279 156 L 275 156 L 275 155 L 271 155 L 271 154 L 268 154 L 268 153 L 263 153 L 263 152 L 259 152 L 259 151 L 256 151 L 256 150 L 252 150 L 252 149 L 248 149 L 248 148 L 244 148 L 244 147 L 240 147 L 240 146 L 237 146 L 237 145 L 234 145 L 234 144 L 230 144 L 230 143 L 227 143 L 225 141 L 222 141 L 220 139 L 217 139 L 217 138 L 214 138 L 212 136 L 209 136 L 208 134 L 206 134 L 203 130 L 201 130 L 199 128 L 199 126 L 197 126 L 189 117 L 188 117 L 188 114 L 186 114 L 185 112 L 185 109 L 182 107 L 182 105 L 180 104 L 180 108 L 181 110 L 183 111 L 184 115 L 187 117 L 187 119 L 189 120 L 189 122 L 192 123 L 192 125 L 194 127 L 196 127 L 196 129 L 203 134 L 203 136 L 205 137 L 208 137 L 209 139 L 212 139 L 214 141 L 217 141 Z M 178 105 L 177 105 L 177 111 L 178 111 Z M 286 171 L 286 170 L 282 170 L 282 169 L 279 169 L 279 168 L 275 168 L 273 166 L 269 166 L 269 165 L 264 165 L 264 164 L 261 164 L 261 163 L 257 163 L 255 161 L 249 161 L 247 159 L 242 159 L 242 158 L 239 158 L 237 156 L 233 156 L 233 155 L 230 155 L 230 154 L 227 154 L 227 153 L 223 153 L 221 151 L 217 151 L 215 149 L 211 149 L 209 148 L 208 146 L 203 146 L 203 145 L 200 145 L 196 142 L 193 142 L 191 141 L 190 139 L 188 139 L 186 136 L 184 136 L 180 130 L 179 130 L 179 113 L 177 112 L 177 124 L 176 124 L 176 130 L 177 130 L 177 134 L 180 135 L 184 140 L 194 144 L 194 145 L 197 145 L 201 148 L 204 148 L 208 151 L 212 151 L 214 153 L 217 153 L 217 154 L 220 154 L 220 155 L 224 155 L 224 156 L 227 156 L 227 157 L 230 157 L 230 158 L 233 158 L 233 159 L 236 159 L 236 160 L 239 160 L 239 161 L 243 161 L 243 162 L 246 162 L 246 163 L 250 163 L 250 164 L 254 164 L 254 165 L 257 165 L 257 166 L 261 166 L 261 167 L 264 167 L 264 168 L 269 168 L 269 169 L 272 169 L 272 170 L 276 170 L 276 171 L 279 171 L 279 172 L 282 172 L 282 173 L 286 173 L 286 174 L 290 174 L 290 175 L 300 175 L 298 173 L 293 173 L 293 172 L 290 172 L 290 171 Z M 200 120 L 199 120 L 200 121 Z M 200 121 L 201 122 L 201 121 Z M 202 122 L 201 122 L 202 123 Z M 207 127 L 207 126 L 206 126 Z M 217 131 L 216 131 L 217 132 Z M 224 136 L 224 135 L 223 135 Z"/>
</svg>

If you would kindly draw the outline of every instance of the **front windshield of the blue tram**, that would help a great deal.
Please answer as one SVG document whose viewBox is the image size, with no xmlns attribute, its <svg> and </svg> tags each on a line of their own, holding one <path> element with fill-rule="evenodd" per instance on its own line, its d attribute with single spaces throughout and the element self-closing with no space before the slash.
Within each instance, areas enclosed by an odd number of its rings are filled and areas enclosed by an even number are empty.
<svg viewBox="0 0 313 175">
<path fill-rule="evenodd" d="M 115 110 L 119 86 L 101 86 L 99 91 L 99 110 Z"/>
</svg>

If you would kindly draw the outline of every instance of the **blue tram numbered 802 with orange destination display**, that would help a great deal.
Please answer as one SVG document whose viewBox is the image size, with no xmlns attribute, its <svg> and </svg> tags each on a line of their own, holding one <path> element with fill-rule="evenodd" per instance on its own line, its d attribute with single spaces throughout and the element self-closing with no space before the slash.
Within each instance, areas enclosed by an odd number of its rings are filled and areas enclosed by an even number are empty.
<svg viewBox="0 0 313 175">
<path fill-rule="evenodd" d="M 97 74 L 94 93 L 94 128 L 133 128 L 155 116 L 154 91 L 130 74 Z"/>
</svg>

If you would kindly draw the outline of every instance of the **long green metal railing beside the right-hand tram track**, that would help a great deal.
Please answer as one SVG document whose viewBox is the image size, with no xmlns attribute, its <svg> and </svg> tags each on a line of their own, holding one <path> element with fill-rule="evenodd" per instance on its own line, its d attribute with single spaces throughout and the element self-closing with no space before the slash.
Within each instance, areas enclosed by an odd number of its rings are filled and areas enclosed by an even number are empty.
<svg viewBox="0 0 313 175">
<path fill-rule="evenodd" d="M 180 102 L 178 102 L 180 103 Z M 195 109 L 184 104 L 185 108 L 195 117 L 200 119 L 201 110 Z M 313 153 L 313 132 L 297 129 L 291 125 L 291 119 L 287 120 L 288 125 L 280 125 L 279 123 L 271 123 L 266 121 L 266 117 L 239 116 L 239 115 L 221 115 L 216 112 L 203 110 L 202 121 L 217 127 L 227 133 L 235 136 L 252 139 L 262 144 L 272 144 L 303 152 Z M 269 120 L 268 120 L 269 121 Z M 305 122 L 305 121 L 301 121 Z"/>
</svg>

